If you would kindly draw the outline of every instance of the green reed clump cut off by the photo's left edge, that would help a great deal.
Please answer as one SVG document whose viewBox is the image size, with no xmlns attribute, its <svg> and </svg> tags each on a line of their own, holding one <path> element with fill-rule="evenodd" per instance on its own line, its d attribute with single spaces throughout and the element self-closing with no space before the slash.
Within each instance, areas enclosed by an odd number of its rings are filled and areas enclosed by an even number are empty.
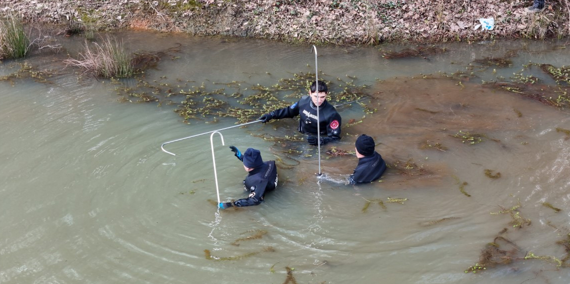
<svg viewBox="0 0 570 284">
<path fill-rule="evenodd" d="M 30 47 L 22 19 L 10 13 L 0 13 L 0 59 L 22 58 Z"/>
</svg>

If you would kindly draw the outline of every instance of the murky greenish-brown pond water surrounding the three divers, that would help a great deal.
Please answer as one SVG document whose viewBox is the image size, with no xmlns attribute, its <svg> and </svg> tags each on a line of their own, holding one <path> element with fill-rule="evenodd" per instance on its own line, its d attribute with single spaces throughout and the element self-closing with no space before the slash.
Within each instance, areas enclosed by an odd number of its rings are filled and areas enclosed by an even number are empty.
<svg viewBox="0 0 570 284">
<path fill-rule="evenodd" d="M 298 137 L 294 119 L 227 129 L 226 145 L 214 143 L 222 201 L 246 194 L 229 145 L 275 160 L 280 184 L 262 205 L 217 212 L 207 135 L 168 145 L 177 156 L 160 145 L 236 119 L 198 113 L 182 123 L 173 110 L 185 95 L 168 94 L 203 85 L 243 107 L 258 83 L 310 72 L 314 55 L 258 40 L 121 36 L 133 50 L 181 45 L 136 80 L 0 83 L 0 283 L 567 282 L 568 112 L 481 84 L 508 81 L 529 61 L 567 65 L 567 51 L 552 48 L 560 43 L 448 44 L 429 60 L 320 47 L 334 90 L 366 85 L 370 98 L 339 107 L 343 139 L 321 149 L 324 176 L 314 147 L 284 139 Z M 82 43 L 67 40 L 70 51 Z M 510 67 L 469 66 L 508 50 L 518 50 Z M 31 61 L 58 70 L 56 56 Z M 541 79 L 531 87 L 557 90 L 539 68 L 526 72 Z M 141 82 L 174 104 L 119 102 L 136 102 L 124 87 Z M 304 92 L 274 95 L 294 102 L 288 95 Z M 353 151 L 361 133 L 390 168 L 381 181 L 346 185 L 356 157 L 326 151 Z"/>
</svg>

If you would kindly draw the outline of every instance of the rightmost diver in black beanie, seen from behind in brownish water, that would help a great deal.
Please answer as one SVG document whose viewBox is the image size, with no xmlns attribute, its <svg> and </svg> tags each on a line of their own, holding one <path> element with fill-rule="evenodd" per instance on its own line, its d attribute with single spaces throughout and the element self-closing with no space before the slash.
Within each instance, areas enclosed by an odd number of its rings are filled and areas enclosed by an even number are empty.
<svg viewBox="0 0 570 284">
<path fill-rule="evenodd" d="M 374 139 L 365 134 L 356 139 L 356 157 L 359 158 L 355 172 L 348 177 L 350 184 L 372 182 L 386 171 L 386 162 L 374 151 Z"/>
</svg>

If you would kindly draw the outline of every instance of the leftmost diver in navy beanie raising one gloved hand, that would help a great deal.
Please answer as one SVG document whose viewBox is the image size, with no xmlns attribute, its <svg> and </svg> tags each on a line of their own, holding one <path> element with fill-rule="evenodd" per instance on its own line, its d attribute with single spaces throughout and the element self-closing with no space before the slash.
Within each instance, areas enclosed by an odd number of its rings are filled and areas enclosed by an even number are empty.
<svg viewBox="0 0 570 284">
<path fill-rule="evenodd" d="M 248 172 L 246 179 L 243 180 L 243 189 L 249 192 L 249 196 L 234 202 L 219 203 L 218 207 L 226 209 L 232 206 L 259 205 L 263 202 L 265 194 L 277 187 L 275 161 L 263 162 L 261 153 L 253 148 L 247 148 L 243 155 L 234 146 L 230 146 L 230 149 L 240 161 L 243 161 L 243 168 Z"/>
</svg>

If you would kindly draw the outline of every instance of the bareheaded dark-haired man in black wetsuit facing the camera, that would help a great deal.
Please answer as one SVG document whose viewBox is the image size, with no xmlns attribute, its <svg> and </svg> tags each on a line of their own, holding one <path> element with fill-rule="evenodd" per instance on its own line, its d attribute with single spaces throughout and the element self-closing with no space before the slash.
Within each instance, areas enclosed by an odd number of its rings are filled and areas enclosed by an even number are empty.
<svg viewBox="0 0 570 284">
<path fill-rule="evenodd" d="M 327 102 L 327 84 L 319 81 L 319 92 L 316 92 L 316 82 L 311 85 L 311 92 L 303 96 L 289 107 L 276 109 L 259 117 L 262 123 L 271 119 L 292 118 L 299 115 L 299 132 L 307 134 L 307 142 L 317 145 L 317 106 L 319 106 L 319 130 L 321 145 L 340 139 L 341 118 L 332 104 Z"/>
</svg>

